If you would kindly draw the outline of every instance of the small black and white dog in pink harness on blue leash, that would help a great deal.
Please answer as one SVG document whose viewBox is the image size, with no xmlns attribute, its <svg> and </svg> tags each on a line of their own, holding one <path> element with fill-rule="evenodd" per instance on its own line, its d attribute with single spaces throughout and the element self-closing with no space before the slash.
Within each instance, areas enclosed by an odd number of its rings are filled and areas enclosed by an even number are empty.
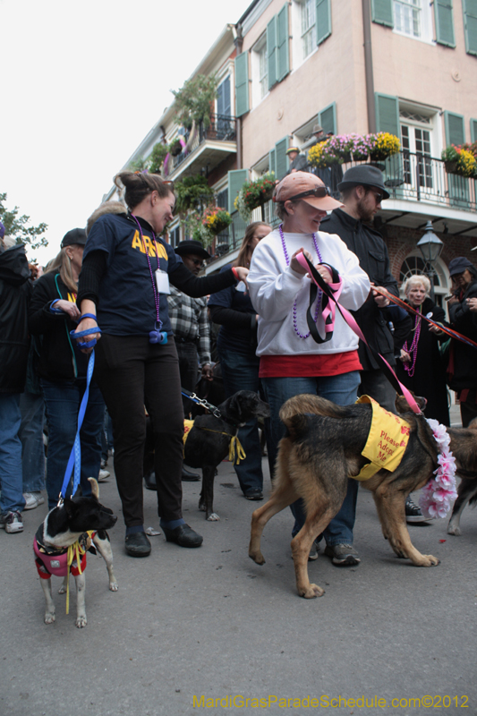
<svg viewBox="0 0 477 716">
<path fill-rule="evenodd" d="M 48 512 L 45 521 L 40 524 L 33 540 L 35 563 L 45 594 L 45 624 L 55 621 L 55 604 L 51 594 L 51 575 L 64 576 L 58 590 L 64 594 L 68 588 L 68 548 L 72 547 L 73 559 L 71 573 L 76 583 L 76 622 L 81 628 L 86 626 L 85 577 L 86 551 L 99 554 L 106 562 L 109 575 L 109 589 L 117 591 L 117 582 L 113 574 L 113 552 L 106 529 L 114 527 L 117 517 L 113 511 L 99 502 L 98 482 L 89 477 L 92 496 L 82 497 L 76 493 L 72 499 L 65 499 L 62 507 L 54 507 Z M 80 558 L 78 566 L 77 558 Z M 81 572 L 80 572 L 81 567 Z"/>
</svg>

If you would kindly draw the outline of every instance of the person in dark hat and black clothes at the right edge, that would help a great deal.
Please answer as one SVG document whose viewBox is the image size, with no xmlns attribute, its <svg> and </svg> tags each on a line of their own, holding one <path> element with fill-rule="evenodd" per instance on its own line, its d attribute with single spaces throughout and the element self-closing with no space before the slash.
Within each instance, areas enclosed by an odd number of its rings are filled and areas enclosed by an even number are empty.
<svg viewBox="0 0 477 716">
<path fill-rule="evenodd" d="M 464 256 L 451 260 L 448 269 L 455 286 L 449 301 L 452 328 L 477 343 L 477 269 Z M 456 390 L 466 428 L 477 417 L 477 348 L 453 338 L 447 373 L 448 386 Z"/>
</svg>

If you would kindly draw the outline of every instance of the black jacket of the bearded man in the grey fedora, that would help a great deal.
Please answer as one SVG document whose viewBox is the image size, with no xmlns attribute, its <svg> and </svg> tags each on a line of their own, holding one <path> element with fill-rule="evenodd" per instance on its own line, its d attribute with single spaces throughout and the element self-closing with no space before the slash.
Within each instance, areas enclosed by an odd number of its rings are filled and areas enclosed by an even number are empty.
<svg viewBox="0 0 477 716">
<path fill-rule="evenodd" d="M 350 217 L 342 209 L 334 209 L 321 221 L 319 229 L 327 234 L 338 234 L 343 239 L 348 249 L 356 254 L 362 270 L 366 271 L 375 286 L 384 286 L 390 294 L 399 295 L 396 278 L 389 268 L 388 249 L 377 231 L 364 225 L 359 219 Z M 394 341 L 388 328 L 386 309 L 379 309 L 370 294 L 366 303 L 358 311 L 353 311 L 353 316 L 368 343 L 386 358 L 390 365 L 396 365 Z M 358 353 L 365 371 L 379 368 L 371 351 L 362 341 Z"/>
</svg>

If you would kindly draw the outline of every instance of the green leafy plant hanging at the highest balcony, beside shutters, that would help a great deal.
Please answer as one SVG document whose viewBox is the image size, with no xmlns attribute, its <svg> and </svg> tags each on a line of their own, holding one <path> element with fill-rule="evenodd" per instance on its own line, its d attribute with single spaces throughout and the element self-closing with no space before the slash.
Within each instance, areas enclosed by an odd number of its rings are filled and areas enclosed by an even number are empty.
<svg viewBox="0 0 477 716">
<path fill-rule="evenodd" d="M 191 130 L 192 123 L 210 125 L 214 101 L 217 98 L 217 75 L 207 77 L 198 74 L 192 80 L 186 80 L 180 90 L 173 90 L 175 97 L 175 115 L 185 129 Z"/>
</svg>

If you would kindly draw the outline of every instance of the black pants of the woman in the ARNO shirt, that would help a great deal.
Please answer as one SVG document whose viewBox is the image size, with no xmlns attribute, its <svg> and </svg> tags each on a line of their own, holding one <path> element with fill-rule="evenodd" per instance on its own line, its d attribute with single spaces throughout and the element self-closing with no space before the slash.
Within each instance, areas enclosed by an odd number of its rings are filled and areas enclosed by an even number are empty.
<svg viewBox="0 0 477 716">
<path fill-rule="evenodd" d="M 147 337 L 103 335 L 96 347 L 95 379 L 115 435 L 115 475 L 128 527 L 144 523 L 142 459 L 144 405 L 154 426 L 158 516 L 182 517 L 183 406 L 174 338 L 166 345 Z"/>
</svg>

